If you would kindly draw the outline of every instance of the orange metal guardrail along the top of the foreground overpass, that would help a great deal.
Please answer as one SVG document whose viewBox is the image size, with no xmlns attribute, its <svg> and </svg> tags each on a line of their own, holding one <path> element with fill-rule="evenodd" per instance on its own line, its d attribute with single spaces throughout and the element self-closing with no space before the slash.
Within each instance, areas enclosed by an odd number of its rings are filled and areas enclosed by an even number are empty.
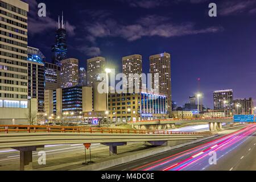
<svg viewBox="0 0 256 182">
<path fill-rule="evenodd" d="M 30 126 L 30 125 L 0 125 L 0 134 L 5 133 L 102 133 L 102 134 L 166 134 L 166 135 L 216 135 L 213 132 L 181 132 L 164 130 L 130 130 L 130 129 L 112 129 L 98 127 L 74 127 L 74 126 Z"/>
</svg>

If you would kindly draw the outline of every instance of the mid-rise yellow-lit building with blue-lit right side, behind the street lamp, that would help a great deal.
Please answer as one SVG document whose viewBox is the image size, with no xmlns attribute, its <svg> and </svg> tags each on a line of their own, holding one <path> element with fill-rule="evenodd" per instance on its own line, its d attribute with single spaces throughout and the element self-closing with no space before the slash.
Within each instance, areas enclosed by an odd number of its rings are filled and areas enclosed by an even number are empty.
<svg viewBox="0 0 256 182">
<path fill-rule="evenodd" d="M 146 92 L 109 94 L 109 117 L 113 122 L 167 118 L 167 98 Z"/>
</svg>

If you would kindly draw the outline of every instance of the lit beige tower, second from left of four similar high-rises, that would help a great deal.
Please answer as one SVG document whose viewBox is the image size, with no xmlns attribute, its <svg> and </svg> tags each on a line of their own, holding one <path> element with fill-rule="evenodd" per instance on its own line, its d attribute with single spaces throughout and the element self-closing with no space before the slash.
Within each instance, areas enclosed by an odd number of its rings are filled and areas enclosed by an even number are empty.
<svg viewBox="0 0 256 182">
<path fill-rule="evenodd" d="M 93 86 L 97 81 L 98 74 L 105 73 L 106 59 L 104 57 L 93 57 L 87 60 L 87 86 Z"/>
</svg>

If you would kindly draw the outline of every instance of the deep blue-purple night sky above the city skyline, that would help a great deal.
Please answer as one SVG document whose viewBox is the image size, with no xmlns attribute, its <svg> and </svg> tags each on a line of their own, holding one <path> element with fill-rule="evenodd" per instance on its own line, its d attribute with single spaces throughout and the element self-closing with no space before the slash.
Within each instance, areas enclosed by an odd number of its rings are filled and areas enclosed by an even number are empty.
<svg viewBox="0 0 256 182">
<path fill-rule="evenodd" d="M 234 98 L 255 97 L 255 0 L 24 0 L 30 4 L 28 46 L 51 61 L 58 15 L 64 11 L 68 57 L 104 56 L 108 67 L 122 72 L 122 56 L 141 54 L 143 72 L 149 56 L 172 56 L 172 98 L 181 106 L 201 90 L 203 104 L 213 107 L 213 90 L 233 89 Z M 37 15 L 46 3 L 47 17 Z M 210 2 L 217 17 L 208 16 Z M 116 72 L 118 72 L 116 71 Z M 200 78 L 200 86 L 197 83 Z"/>
</svg>

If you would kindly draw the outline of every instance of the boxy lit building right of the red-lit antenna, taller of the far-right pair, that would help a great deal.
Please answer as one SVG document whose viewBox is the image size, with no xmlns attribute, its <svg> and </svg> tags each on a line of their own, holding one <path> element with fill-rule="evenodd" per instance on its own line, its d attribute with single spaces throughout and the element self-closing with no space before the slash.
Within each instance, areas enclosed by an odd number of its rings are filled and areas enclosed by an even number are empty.
<svg viewBox="0 0 256 182">
<path fill-rule="evenodd" d="M 231 109 L 233 90 L 216 90 L 213 92 L 213 105 L 216 110 Z"/>
</svg>

